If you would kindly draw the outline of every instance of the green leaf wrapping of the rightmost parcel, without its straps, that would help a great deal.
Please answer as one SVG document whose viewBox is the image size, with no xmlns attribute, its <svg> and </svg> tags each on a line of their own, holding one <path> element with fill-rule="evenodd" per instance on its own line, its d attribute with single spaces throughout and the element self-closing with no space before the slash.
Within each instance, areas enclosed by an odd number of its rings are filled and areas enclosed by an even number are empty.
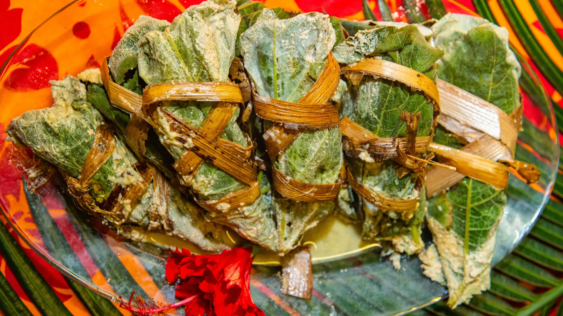
<svg viewBox="0 0 563 316">
<path fill-rule="evenodd" d="M 444 49 L 439 78 L 493 103 L 510 114 L 519 105 L 520 65 L 504 28 L 474 16 L 448 13 L 434 26 L 434 43 Z M 461 148 L 467 139 L 438 127 L 436 143 Z M 452 308 L 490 287 L 490 262 L 506 195 L 464 178 L 428 201 L 427 222 L 448 283 Z"/>
</svg>

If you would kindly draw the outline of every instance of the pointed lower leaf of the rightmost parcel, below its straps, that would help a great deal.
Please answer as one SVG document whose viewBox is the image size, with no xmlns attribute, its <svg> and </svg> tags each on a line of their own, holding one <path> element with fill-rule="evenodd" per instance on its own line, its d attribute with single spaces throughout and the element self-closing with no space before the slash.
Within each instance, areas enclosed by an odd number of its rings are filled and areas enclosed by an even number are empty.
<svg viewBox="0 0 563 316">
<path fill-rule="evenodd" d="M 489 287 L 490 260 L 504 204 L 503 191 L 471 178 L 430 200 L 427 222 L 448 283 L 448 305 L 463 303 Z"/>
</svg>

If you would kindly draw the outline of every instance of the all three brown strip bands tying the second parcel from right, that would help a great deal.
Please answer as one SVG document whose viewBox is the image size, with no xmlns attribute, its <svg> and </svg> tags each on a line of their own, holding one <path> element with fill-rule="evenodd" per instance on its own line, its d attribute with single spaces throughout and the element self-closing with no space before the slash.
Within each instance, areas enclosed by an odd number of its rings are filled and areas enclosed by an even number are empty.
<svg viewBox="0 0 563 316">
<path fill-rule="evenodd" d="M 421 91 L 428 98 L 428 101 L 432 102 L 434 113 L 430 136 L 416 136 L 419 114 L 412 114 L 407 111 L 401 112 L 400 115 L 400 119 L 406 123 L 406 137 L 381 138 L 346 117 L 340 120 L 342 134 L 345 136 L 343 149 L 347 156 L 359 157 L 364 152 L 369 154 L 373 162 L 391 159 L 415 172 L 423 170 L 427 162 L 415 155 L 422 155 L 427 151 L 440 114 L 440 97 L 434 81 L 414 69 L 379 58 L 365 58 L 354 66 L 342 67 L 341 72 L 354 85 L 360 84 L 364 75 L 394 80 L 407 85 L 414 91 Z M 408 173 L 408 169 L 404 173 Z M 423 178 L 419 175 L 414 188 L 418 194 L 407 200 L 396 200 L 365 187 L 354 178 L 350 170 L 348 170 L 347 179 L 354 191 L 370 204 L 382 211 L 397 211 L 401 213 L 403 220 L 412 218 L 414 211 L 417 209 L 418 198 L 423 186 Z"/>
</svg>

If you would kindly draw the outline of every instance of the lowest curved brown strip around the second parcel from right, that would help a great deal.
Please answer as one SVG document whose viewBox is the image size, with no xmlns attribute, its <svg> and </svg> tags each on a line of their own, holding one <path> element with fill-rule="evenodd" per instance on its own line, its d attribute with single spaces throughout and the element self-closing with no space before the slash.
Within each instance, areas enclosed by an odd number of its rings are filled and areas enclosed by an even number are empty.
<svg viewBox="0 0 563 316">
<path fill-rule="evenodd" d="M 366 201 L 370 204 L 373 204 L 378 209 L 382 211 L 392 210 L 401 213 L 401 217 L 404 220 L 409 220 L 412 218 L 414 211 L 418 205 L 418 198 L 420 196 L 420 192 L 422 191 L 423 186 L 423 179 L 422 177 L 417 177 L 417 182 L 414 184 L 415 192 L 418 192 L 417 196 L 414 198 L 409 198 L 406 200 L 396 200 L 395 198 L 389 198 L 386 196 L 381 195 L 381 193 L 375 192 L 363 184 L 361 184 L 354 176 L 348 172 L 348 183 L 352 186 L 352 189 L 359 196 L 363 197 Z"/>
</svg>

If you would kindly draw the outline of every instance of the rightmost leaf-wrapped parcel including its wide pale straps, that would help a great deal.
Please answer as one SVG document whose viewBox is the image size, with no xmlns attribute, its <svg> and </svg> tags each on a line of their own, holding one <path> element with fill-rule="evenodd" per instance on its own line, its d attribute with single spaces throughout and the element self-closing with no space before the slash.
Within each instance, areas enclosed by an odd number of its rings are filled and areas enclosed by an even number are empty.
<svg viewBox="0 0 563 316">
<path fill-rule="evenodd" d="M 440 278 L 448 283 L 448 305 L 454 308 L 490 287 L 509 166 L 529 183 L 540 174 L 514 160 L 522 120 L 520 64 L 508 47 L 507 30 L 479 17 L 448 13 L 432 31 L 445 55 L 438 62 L 442 113 L 430 150 L 457 171 L 428 170 L 427 223 L 444 271 Z"/>
</svg>

